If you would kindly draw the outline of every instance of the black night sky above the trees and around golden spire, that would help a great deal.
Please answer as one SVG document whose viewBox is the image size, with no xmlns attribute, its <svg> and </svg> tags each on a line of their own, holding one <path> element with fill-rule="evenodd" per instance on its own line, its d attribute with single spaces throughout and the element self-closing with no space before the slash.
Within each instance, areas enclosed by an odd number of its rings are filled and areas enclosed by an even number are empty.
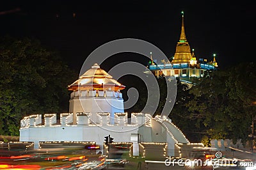
<svg viewBox="0 0 256 170">
<path fill-rule="evenodd" d="M 0 35 L 37 38 L 80 70 L 94 49 L 118 38 L 145 40 L 173 56 L 183 10 L 196 58 L 215 53 L 223 68 L 255 61 L 255 9 L 253 1 L 1 1 Z M 122 54 L 105 64 L 130 59 L 145 61 Z"/>
</svg>

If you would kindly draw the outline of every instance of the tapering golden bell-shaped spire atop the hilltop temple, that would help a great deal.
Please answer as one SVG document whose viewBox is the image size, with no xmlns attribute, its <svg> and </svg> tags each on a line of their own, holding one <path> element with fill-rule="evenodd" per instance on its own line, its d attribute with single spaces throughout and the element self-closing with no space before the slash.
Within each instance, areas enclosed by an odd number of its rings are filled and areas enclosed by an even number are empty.
<svg viewBox="0 0 256 170">
<path fill-rule="evenodd" d="M 191 58 L 192 58 L 191 49 L 185 34 L 184 12 L 182 12 L 180 40 L 177 43 L 176 51 L 175 51 L 172 63 L 173 64 L 189 63 Z"/>
</svg>

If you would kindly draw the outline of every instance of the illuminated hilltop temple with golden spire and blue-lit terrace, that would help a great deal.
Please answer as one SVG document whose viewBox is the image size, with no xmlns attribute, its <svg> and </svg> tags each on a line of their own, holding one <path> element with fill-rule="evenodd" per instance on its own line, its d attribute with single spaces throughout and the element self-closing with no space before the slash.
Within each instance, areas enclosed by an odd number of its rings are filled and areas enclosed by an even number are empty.
<svg viewBox="0 0 256 170">
<path fill-rule="evenodd" d="M 161 61 L 157 63 L 154 61 L 151 53 L 151 60 L 148 62 L 148 68 L 156 77 L 161 76 L 175 76 L 179 77 L 180 81 L 193 83 L 193 78 L 200 78 L 204 76 L 205 70 L 216 70 L 218 64 L 216 62 L 216 55 L 213 55 L 213 61 L 207 63 L 207 59 L 196 59 L 194 50 L 191 50 L 185 34 L 184 13 L 182 12 L 182 25 L 180 31 L 180 39 L 176 45 L 174 56 L 169 62 Z"/>
</svg>

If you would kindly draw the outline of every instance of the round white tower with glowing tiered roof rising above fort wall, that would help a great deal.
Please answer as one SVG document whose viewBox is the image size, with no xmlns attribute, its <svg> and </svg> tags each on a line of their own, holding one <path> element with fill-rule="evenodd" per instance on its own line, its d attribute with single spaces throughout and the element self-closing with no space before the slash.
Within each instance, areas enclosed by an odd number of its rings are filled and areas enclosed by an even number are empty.
<svg viewBox="0 0 256 170">
<path fill-rule="evenodd" d="M 73 92 L 70 95 L 69 112 L 90 112 L 90 120 L 100 123 L 100 112 L 108 112 L 111 124 L 114 123 L 115 112 L 124 112 L 124 100 L 120 90 L 125 86 L 115 81 L 111 75 L 102 70 L 97 63 L 68 86 Z M 76 115 L 73 115 L 76 124 Z"/>
</svg>

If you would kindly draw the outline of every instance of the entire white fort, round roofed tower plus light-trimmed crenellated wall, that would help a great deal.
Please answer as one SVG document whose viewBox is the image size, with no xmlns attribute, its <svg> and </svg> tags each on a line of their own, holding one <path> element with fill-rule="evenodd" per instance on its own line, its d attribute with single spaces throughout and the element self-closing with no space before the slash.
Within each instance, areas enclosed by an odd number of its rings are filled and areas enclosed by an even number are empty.
<svg viewBox="0 0 256 170">
<path fill-rule="evenodd" d="M 167 117 L 131 113 L 129 120 L 120 92 L 124 88 L 95 63 L 68 86 L 69 112 L 25 117 L 20 121 L 20 142 L 33 142 L 35 149 L 44 143 L 95 143 L 106 153 L 104 137 L 110 135 L 115 143 L 129 144 L 133 156 L 145 156 L 154 147 L 161 157 L 181 157 L 184 150 L 202 146 L 189 143 Z"/>
</svg>

